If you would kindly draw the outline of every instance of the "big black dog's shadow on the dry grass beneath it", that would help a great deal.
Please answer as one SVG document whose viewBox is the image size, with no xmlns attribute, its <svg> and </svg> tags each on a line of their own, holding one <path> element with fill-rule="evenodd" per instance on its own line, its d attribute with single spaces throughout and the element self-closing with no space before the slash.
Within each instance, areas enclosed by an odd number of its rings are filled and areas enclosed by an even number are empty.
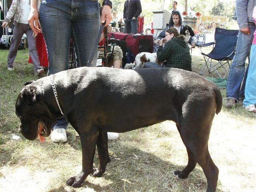
<svg viewBox="0 0 256 192">
<path fill-rule="evenodd" d="M 111 161 L 107 165 L 103 178 L 88 176 L 80 190 L 84 191 L 83 189 L 89 188 L 90 191 L 96 192 L 206 191 L 207 181 L 201 168 L 196 167 L 188 178 L 179 180 L 174 176 L 173 171 L 182 170 L 186 165 L 178 166 L 175 163 L 162 160 L 152 153 L 134 148 L 134 146 L 124 146 L 122 141 L 116 141 L 113 149 L 111 148 L 113 143 L 110 142 Z M 95 166 L 98 165 L 96 158 L 97 155 L 94 158 Z M 67 176 L 66 180 L 71 176 L 74 175 Z M 218 186 L 220 185 L 219 181 Z M 76 191 L 72 187 L 68 187 L 70 189 L 67 190 L 66 187 L 62 185 L 48 190 L 48 192 Z M 223 192 L 219 189 L 217 191 Z"/>
</svg>

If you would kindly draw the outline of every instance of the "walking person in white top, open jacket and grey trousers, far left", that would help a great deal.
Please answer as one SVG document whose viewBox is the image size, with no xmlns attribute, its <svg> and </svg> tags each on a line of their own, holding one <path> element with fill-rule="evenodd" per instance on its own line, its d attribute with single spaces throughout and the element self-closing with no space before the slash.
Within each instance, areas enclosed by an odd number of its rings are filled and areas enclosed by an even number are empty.
<svg viewBox="0 0 256 192">
<path fill-rule="evenodd" d="M 29 0 L 13 0 L 12 5 L 6 15 L 2 27 L 6 28 L 8 23 L 14 16 L 14 29 L 12 36 L 12 43 L 10 46 L 7 64 L 9 71 L 13 70 L 13 62 L 16 58 L 20 40 L 25 33 L 28 40 L 28 50 L 32 59 L 34 74 L 40 75 L 44 73 L 44 69 L 40 66 L 38 52 L 36 50 L 36 38 L 33 37 L 33 31 L 28 25 L 28 14 L 30 12 L 30 1 Z"/>
</svg>

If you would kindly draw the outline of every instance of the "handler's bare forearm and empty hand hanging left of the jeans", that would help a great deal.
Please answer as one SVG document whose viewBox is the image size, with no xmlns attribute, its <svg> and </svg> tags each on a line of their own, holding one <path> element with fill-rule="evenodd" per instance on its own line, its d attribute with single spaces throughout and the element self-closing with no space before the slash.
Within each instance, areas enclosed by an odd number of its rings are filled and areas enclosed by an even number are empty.
<svg viewBox="0 0 256 192">
<path fill-rule="evenodd" d="M 41 32 L 39 28 L 39 22 L 38 22 L 39 14 L 38 14 L 37 6 L 38 6 L 38 0 L 31 0 L 30 13 L 28 16 L 28 24 L 32 29 L 32 31 L 34 32 L 34 37 Z"/>
</svg>

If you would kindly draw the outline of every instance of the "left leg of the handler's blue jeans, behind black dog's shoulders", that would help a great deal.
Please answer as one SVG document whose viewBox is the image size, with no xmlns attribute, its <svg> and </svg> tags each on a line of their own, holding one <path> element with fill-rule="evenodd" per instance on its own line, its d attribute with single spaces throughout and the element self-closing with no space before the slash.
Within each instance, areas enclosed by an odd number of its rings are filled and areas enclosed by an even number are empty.
<svg viewBox="0 0 256 192">
<path fill-rule="evenodd" d="M 56 8 L 57 7 L 57 8 Z M 46 43 L 48 75 L 68 69 L 68 54 L 72 32 L 70 1 L 56 3 L 42 0 L 40 26 Z"/>
</svg>

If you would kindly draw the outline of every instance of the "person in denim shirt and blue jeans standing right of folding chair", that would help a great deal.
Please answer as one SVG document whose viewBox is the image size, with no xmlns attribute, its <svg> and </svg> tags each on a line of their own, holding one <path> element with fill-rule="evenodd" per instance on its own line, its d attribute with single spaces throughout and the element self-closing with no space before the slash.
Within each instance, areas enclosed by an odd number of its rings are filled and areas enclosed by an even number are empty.
<svg viewBox="0 0 256 192">
<path fill-rule="evenodd" d="M 252 18 L 256 0 L 236 0 L 236 17 L 239 26 L 238 39 L 236 43 L 236 53 L 230 66 L 227 80 L 227 101 L 226 107 L 232 108 L 239 98 L 244 99 L 244 86 L 241 83 L 244 78 L 246 82 L 245 60 L 250 53 L 255 23 Z M 249 65 L 248 65 L 249 66 Z M 248 71 L 248 67 L 246 72 Z"/>
</svg>

